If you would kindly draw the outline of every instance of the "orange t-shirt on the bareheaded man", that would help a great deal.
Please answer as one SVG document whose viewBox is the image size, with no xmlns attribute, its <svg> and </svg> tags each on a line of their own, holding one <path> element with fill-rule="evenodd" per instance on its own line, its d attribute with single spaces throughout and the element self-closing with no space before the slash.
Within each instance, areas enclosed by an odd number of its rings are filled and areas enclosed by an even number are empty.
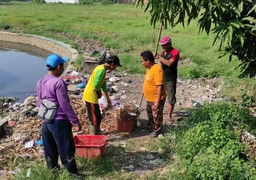
<svg viewBox="0 0 256 180">
<path fill-rule="evenodd" d="M 157 89 L 159 85 L 164 85 L 164 71 L 162 68 L 155 64 L 146 71 L 145 79 L 143 83 L 143 93 L 145 98 L 149 102 L 155 102 L 157 99 Z M 162 99 L 166 98 L 165 87 L 162 88 Z"/>
</svg>

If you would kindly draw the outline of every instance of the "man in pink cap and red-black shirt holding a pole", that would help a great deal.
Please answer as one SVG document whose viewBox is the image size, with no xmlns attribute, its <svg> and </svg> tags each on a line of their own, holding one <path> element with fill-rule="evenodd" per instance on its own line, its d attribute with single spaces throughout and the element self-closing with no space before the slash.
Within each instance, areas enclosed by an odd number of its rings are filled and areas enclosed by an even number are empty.
<svg viewBox="0 0 256 180">
<path fill-rule="evenodd" d="M 177 66 L 180 52 L 172 47 L 171 37 L 169 36 L 165 36 L 159 44 L 162 45 L 164 51 L 160 53 L 160 56 L 156 54 L 156 58 L 160 59 L 162 69 L 164 70 L 165 88 L 169 103 L 167 123 L 172 124 L 174 123 L 172 111 L 176 103 Z"/>
</svg>

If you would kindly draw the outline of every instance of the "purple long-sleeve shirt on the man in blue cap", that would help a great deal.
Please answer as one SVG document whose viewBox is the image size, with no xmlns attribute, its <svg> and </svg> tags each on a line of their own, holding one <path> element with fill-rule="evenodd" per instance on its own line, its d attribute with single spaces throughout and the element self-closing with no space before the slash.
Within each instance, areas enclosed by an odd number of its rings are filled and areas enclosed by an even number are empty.
<svg viewBox="0 0 256 180">
<path fill-rule="evenodd" d="M 40 107 L 41 99 L 39 81 L 37 82 L 36 89 L 38 106 Z M 44 76 L 42 80 L 42 99 L 52 101 L 59 106 L 59 109 L 54 117 L 55 120 L 70 120 L 70 122 L 72 122 L 75 126 L 80 124 L 78 116 L 75 114 L 74 109 L 70 105 L 67 85 L 62 79 L 50 74 Z"/>
</svg>

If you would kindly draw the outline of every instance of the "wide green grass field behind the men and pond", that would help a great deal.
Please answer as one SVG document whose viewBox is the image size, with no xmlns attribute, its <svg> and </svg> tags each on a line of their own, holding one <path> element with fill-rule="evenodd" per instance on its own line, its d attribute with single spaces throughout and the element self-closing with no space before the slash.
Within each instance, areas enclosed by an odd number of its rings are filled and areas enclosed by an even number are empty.
<svg viewBox="0 0 256 180">
<path fill-rule="evenodd" d="M 104 48 L 119 52 L 124 70 L 144 73 L 140 65 L 139 53 L 154 51 L 159 24 L 150 26 L 149 14 L 134 5 L 101 4 L 31 4 L 10 2 L 0 6 L 0 22 L 10 25 L 9 31 L 37 34 L 72 43 L 57 33 L 65 32 L 84 39 L 100 40 Z M 238 62 L 228 62 L 228 57 L 218 59 L 218 46 L 212 46 L 215 35 L 198 34 L 196 21 L 189 27 L 177 25 L 162 31 L 162 36 L 170 35 L 173 46 L 178 48 L 181 59 L 190 63 L 179 67 L 179 75 L 184 77 L 219 77 L 239 75 L 234 70 Z M 161 51 L 159 47 L 158 52 Z"/>
</svg>

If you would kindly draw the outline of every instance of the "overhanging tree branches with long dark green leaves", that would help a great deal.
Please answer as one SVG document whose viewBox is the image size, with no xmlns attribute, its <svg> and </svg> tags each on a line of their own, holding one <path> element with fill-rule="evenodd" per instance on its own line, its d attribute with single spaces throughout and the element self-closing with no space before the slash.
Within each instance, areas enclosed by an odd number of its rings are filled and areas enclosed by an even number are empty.
<svg viewBox="0 0 256 180">
<path fill-rule="evenodd" d="M 137 3 L 143 8 L 144 0 Z M 241 61 L 240 77 L 256 75 L 256 0 L 149 0 L 147 10 L 151 25 L 161 22 L 165 29 L 178 23 L 184 27 L 186 17 L 188 25 L 199 18 L 199 32 L 212 31 L 216 34 L 213 45 L 220 42 L 223 56 L 229 54 L 230 61 L 232 56 Z"/>
</svg>

